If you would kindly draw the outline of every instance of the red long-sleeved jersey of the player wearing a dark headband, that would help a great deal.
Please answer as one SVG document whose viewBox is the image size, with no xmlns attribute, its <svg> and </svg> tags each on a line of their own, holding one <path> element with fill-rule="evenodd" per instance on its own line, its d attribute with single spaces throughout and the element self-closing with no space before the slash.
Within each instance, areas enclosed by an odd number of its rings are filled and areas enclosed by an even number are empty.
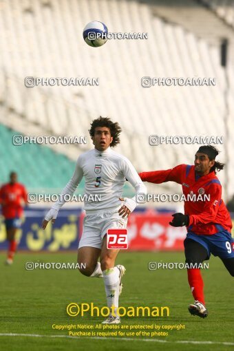
<svg viewBox="0 0 234 351">
<path fill-rule="evenodd" d="M 172 181 L 182 184 L 186 198 L 189 198 L 189 194 L 209 195 L 209 201 L 184 202 L 184 214 L 189 215 L 188 232 L 198 235 L 212 235 L 224 230 L 231 232 L 231 217 L 222 200 L 222 186 L 214 171 L 200 177 L 195 173 L 194 166 L 180 164 L 167 171 L 142 172 L 139 175 L 146 182 L 160 184 Z"/>
</svg>

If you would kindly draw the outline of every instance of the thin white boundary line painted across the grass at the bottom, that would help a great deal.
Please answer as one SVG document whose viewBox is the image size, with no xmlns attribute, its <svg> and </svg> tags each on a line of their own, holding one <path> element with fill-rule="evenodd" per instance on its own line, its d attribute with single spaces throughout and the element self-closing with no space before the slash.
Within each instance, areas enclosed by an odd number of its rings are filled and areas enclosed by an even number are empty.
<svg viewBox="0 0 234 351">
<path fill-rule="evenodd" d="M 233 346 L 234 343 L 221 342 L 221 341 L 193 341 L 193 340 L 178 340 L 178 341 L 167 341 L 160 339 L 140 339 L 140 338 L 123 338 L 123 337 L 71 337 L 70 335 L 45 335 L 45 334 L 16 334 L 16 333 L 0 333 L 0 337 L 36 337 L 36 338 L 66 338 L 66 339 L 96 339 L 96 340 L 125 340 L 125 341 L 149 341 L 155 343 L 193 343 L 203 345 L 228 345 Z"/>
</svg>

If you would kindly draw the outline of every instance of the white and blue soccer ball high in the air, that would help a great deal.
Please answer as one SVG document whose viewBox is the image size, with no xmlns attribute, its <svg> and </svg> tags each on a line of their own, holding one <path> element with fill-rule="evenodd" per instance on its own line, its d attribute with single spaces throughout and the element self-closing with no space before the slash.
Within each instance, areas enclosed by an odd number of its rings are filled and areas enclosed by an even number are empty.
<svg viewBox="0 0 234 351">
<path fill-rule="evenodd" d="M 107 41 L 108 28 L 103 22 L 93 21 L 85 25 L 83 39 L 87 45 L 98 47 Z"/>
</svg>

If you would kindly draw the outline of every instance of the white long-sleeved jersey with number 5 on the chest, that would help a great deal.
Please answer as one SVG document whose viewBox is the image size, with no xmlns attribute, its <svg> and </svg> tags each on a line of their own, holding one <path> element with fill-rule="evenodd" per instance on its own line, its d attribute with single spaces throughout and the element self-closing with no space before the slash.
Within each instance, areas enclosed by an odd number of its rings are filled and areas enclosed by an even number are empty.
<svg viewBox="0 0 234 351">
<path fill-rule="evenodd" d="M 82 178 L 85 177 L 85 211 L 103 211 L 116 209 L 125 204 L 132 212 L 137 202 L 134 198 L 127 198 L 121 202 L 119 198 L 123 197 L 123 187 L 125 180 L 134 187 L 136 193 L 147 193 L 147 189 L 140 179 L 136 169 L 131 162 L 110 149 L 98 151 L 92 149 L 79 156 L 76 169 L 71 180 L 67 183 L 62 191 L 62 195 L 72 195 Z M 97 201 L 88 199 L 94 198 Z M 65 203 L 64 200 L 56 202 L 52 209 L 59 210 Z"/>
</svg>

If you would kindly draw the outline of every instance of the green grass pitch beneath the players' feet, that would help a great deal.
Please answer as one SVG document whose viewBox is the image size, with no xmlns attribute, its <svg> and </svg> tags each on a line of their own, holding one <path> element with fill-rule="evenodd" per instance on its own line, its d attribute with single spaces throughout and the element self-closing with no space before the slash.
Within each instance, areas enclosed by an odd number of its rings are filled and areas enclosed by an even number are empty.
<svg viewBox="0 0 234 351">
<path fill-rule="evenodd" d="M 103 321 L 103 317 L 87 315 L 70 317 L 66 312 L 72 302 L 106 306 L 103 279 L 87 278 L 72 269 L 25 270 L 25 262 L 76 262 L 76 253 L 19 253 L 12 266 L 4 266 L 4 259 L 2 253 L 1 350 L 233 350 L 234 281 L 218 258 L 212 257 L 209 269 L 202 271 L 209 317 L 200 319 L 187 310 L 193 298 L 186 270 L 148 270 L 149 262 L 184 262 L 183 253 L 120 253 L 116 263 L 127 268 L 120 306 L 168 306 L 170 310 L 169 317 L 122 317 L 121 325 L 185 326 L 169 331 L 167 337 L 122 340 L 67 337 L 68 330 L 52 329 L 53 324 L 96 326 Z M 3 336 L 10 333 L 28 336 Z"/>
</svg>

